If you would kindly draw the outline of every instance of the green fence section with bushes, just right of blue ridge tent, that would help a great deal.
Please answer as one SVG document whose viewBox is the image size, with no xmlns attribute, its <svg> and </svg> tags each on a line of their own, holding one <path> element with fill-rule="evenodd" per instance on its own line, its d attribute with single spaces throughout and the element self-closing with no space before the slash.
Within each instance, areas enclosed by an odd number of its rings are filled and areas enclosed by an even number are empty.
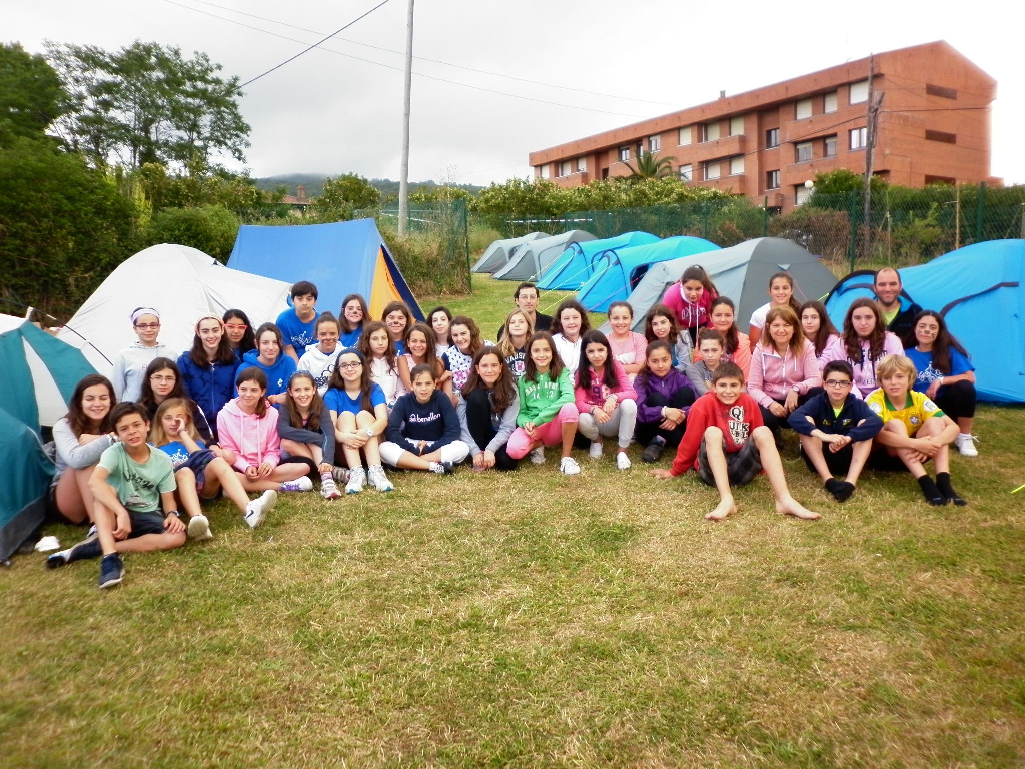
<svg viewBox="0 0 1025 769">
<path fill-rule="evenodd" d="M 410 203 L 406 236 L 399 236 L 399 209 L 360 209 L 372 217 L 413 293 L 438 295 L 469 290 L 469 229 L 466 201 Z"/>
</svg>

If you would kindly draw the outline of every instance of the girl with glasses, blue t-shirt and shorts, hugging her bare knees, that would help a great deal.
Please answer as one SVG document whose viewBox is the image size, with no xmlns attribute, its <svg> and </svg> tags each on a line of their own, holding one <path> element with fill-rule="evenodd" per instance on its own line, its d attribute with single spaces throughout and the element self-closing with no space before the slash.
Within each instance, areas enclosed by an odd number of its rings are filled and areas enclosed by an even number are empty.
<svg viewBox="0 0 1025 769">
<path fill-rule="evenodd" d="M 369 480 L 378 491 L 391 491 L 378 448 L 387 427 L 387 405 L 380 387 L 370 380 L 370 366 L 352 348 L 342 350 L 328 381 L 324 404 L 334 422 L 334 440 L 348 466 L 346 494 L 358 494 Z M 367 469 L 363 469 L 363 458 Z"/>
</svg>

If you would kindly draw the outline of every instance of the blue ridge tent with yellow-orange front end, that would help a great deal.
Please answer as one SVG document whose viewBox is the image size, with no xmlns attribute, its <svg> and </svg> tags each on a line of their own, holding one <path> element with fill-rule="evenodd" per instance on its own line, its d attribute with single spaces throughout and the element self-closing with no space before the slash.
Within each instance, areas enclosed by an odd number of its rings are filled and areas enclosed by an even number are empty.
<svg viewBox="0 0 1025 769">
<path fill-rule="evenodd" d="M 345 294 L 359 293 L 374 318 L 398 299 L 423 320 L 373 219 L 290 227 L 243 225 L 228 267 L 286 283 L 309 280 L 317 286 L 319 311 L 338 315 Z"/>
</svg>

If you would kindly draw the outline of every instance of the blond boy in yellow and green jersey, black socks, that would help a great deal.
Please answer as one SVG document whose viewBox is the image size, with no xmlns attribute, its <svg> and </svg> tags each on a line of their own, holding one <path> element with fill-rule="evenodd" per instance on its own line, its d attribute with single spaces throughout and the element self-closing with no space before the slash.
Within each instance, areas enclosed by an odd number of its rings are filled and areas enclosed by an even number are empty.
<svg viewBox="0 0 1025 769">
<path fill-rule="evenodd" d="M 950 444 L 960 432 L 957 422 L 925 393 L 911 390 L 918 372 L 907 356 L 888 355 L 876 372 L 883 387 L 865 396 L 865 403 L 884 422 L 875 442 L 886 455 L 876 464 L 881 470 L 907 468 L 930 504 L 968 504 L 950 485 Z M 930 459 L 936 462 L 935 482 L 926 472 Z"/>
</svg>

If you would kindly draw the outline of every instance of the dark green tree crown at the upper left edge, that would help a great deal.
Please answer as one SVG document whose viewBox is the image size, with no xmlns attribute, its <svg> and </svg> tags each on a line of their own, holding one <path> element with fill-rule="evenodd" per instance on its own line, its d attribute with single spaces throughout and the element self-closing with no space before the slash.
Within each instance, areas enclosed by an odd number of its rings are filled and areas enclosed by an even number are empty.
<svg viewBox="0 0 1025 769">
<path fill-rule="evenodd" d="M 60 78 L 42 55 L 0 44 L 0 147 L 16 136 L 41 138 L 67 109 Z"/>
</svg>

